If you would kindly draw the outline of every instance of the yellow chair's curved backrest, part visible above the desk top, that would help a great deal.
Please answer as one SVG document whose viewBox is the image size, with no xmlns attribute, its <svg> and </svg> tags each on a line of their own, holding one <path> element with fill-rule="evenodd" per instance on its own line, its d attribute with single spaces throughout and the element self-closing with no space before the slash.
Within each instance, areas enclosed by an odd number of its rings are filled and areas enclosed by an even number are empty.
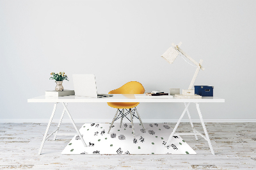
<svg viewBox="0 0 256 170">
<path fill-rule="evenodd" d="M 118 89 L 109 91 L 109 94 L 143 94 L 144 92 L 145 89 L 140 82 L 130 81 Z"/>
</svg>

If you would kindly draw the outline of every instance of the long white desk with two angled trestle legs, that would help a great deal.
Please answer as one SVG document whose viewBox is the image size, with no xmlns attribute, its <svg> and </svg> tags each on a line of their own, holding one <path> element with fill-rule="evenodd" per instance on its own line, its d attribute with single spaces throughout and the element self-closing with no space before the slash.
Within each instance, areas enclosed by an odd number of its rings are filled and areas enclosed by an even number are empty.
<svg viewBox="0 0 256 170">
<path fill-rule="evenodd" d="M 41 154 L 42 152 L 42 148 L 44 146 L 45 140 L 48 139 L 51 135 L 54 134 L 54 140 L 56 139 L 56 135 L 70 135 L 70 134 L 58 134 L 58 130 L 60 129 L 60 125 L 61 125 L 61 121 L 62 118 L 65 114 L 65 112 L 67 112 L 70 120 L 72 121 L 72 124 L 74 125 L 74 128 L 76 129 L 77 134 L 79 135 L 83 145 L 86 147 L 86 143 L 84 143 L 83 137 L 81 137 L 81 134 L 79 133 L 79 130 L 77 129 L 74 120 L 72 119 L 72 116 L 70 114 L 70 112 L 67 109 L 67 104 L 68 103 L 83 103 L 83 102 L 99 102 L 99 103 L 106 103 L 106 102 L 141 102 L 141 103 L 184 103 L 185 105 L 185 109 L 182 112 L 178 122 L 175 125 L 175 128 L 173 128 L 172 134 L 170 135 L 168 142 L 166 143 L 166 146 L 168 146 L 168 144 L 170 144 L 170 141 L 173 137 L 173 135 L 195 135 L 196 140 L 198 140 L 197 135 L 202 136 L 209 144 L 209 147 L 211 149 L 211 153 L 212 155 L 214 155 L 214 151 L 212 149 L 212 145 L 211 145 L 211 141 L 209 139 L 209 135 L 207 133 L 207 130 L 205 128 L 205 124 L 204 124 L 204 120 L 202 118 L 202 114 L 199 108 L 199 103 L 217 103 L 217 102 L 225 102 L 225 100 L 223 98 L 218 98 L 218 97 L 202 97 L 200 99 L 188 99 L 188 98 L 172 98 L 172 99 L 150 99 L 150 98 L 135 98 L 134 95 L 114 95 L 113 97 L 108 97 L 108 98 L 90 98 L 90 97 L 76 97 L 76 96 L 66 96 L 66 97 L 45 97 L 45 96 L 40 96 L 40 97 L 35 97 L 35 98 L 30 98 L 28 99 L 28 102 L 42 102 L 42 103 L 54 103 L 54 108 L 51 114 L 51 118 L 49 120 L 49 123 L 47 125 L 47 128 L 45 130 L 45 134 L 44 134 L 44 139 L 42 141 L 42 144 L 40 146 L 40 150 L 38 152 L 38 155 Z M 58 127 L 56 128 L 56 130 L 54 130 L 51 134 L 48 134 L 51 122 L 52 122 L 52 118 L 54 116 L 54 113 L 56 111 L 56 106 L 58 103 L 62 103 L 64 109 L 63 112 L 61 114 L 61 118 L 58 124 Z M 198 115 L 200 118 L 200 121 L 202 123 L 202 127 L 204 128 L 204 132 L 205 132 L 205 136 L 202 135 L 200 132 L 198 132 L 198 130 L 196 130 L 193 127 L 193 122 L 191 121 L 191 117 L 188 111 L 188 107 L 190 103 L 195 103 L 196 104 L 196 109 L 198 111 Z M 175 133 L 175 131 L 177 130 L 177 127 L 179 126 L 180 121 L 182 120 L 184 114 L 187 112 L 188 117 L 189 117 L 189 121 L 193 130 L 193 133 Z M 72 134 L 74 135 L 74 134 Z"/>
</svg>

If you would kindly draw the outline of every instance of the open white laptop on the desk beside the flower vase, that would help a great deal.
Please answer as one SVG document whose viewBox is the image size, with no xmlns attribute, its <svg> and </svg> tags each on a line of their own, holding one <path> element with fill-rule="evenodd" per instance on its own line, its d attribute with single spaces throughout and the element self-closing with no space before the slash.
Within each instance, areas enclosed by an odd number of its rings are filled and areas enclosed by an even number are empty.
<svg viewBox="0 0 256 170">
<path fill-rule="evenodd" d="M 98 94 L 95 75 L 93 74 L 73 74 L 75 95 L 79 97 L 113 97 L 113 95 Z"/>
</svg>

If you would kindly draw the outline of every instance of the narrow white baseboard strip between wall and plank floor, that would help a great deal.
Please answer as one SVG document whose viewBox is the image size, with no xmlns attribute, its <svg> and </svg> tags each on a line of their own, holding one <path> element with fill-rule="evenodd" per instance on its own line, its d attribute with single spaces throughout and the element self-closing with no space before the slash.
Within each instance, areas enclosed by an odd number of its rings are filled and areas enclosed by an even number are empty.
<svg viewBox="0 0 256 170">
<path fill-rule="evenodd" d="M 0 123 L 48 123 L 46 119 L 2 119 Z M 112 119 L 74 119 L 76 123 L 111 123 Z M 176 123 L 178 119 L 142 119 L 145 123 Z M 193 122 L 198 123 L 200 119 L 192 119 Z M 52 120 L 52 123 L 58 123 L 58 119 Z M 128 123 L 129 120 L 123 121 Z M 134 119 L 135 123 L 139 120 Z M 189 122 L 188 119 L 182 119 L 182 122 Z M 220 122 L 256 122 L 256 119 L 204 119 L 207 123 L 220 123 Z M 70 123 L 69 119 L 63 119 L 62 123 Z"/>
</svg>

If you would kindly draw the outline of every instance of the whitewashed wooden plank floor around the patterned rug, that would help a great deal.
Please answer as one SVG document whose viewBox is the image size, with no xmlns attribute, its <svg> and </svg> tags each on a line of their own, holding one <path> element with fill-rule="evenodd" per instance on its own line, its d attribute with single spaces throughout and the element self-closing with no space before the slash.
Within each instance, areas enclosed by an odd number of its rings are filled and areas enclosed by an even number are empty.
<svg viewBox="0 0 256 170">
<path fill-rule="evenodd" d="M 81 127 L 82 123 L 77 123 Z M 174 123 L 172 127 L 174 127 Z M 256 169 L 256 123 L 205 123 L 216 155 L 207 142 L 182 136 L 196 155 L 61 155 L 72 136 L 47 140 L 37 155 L 47 123 L 0 123 L 0 169 Z M 56 128 L 54 123 L 50 130 Z M 196 129 L 203 132 L 199 123 Z M 63 132 L 74 132 L 63 123 Z M 190 132 L 182 123 L 179 132 Z"/>
</svg>

